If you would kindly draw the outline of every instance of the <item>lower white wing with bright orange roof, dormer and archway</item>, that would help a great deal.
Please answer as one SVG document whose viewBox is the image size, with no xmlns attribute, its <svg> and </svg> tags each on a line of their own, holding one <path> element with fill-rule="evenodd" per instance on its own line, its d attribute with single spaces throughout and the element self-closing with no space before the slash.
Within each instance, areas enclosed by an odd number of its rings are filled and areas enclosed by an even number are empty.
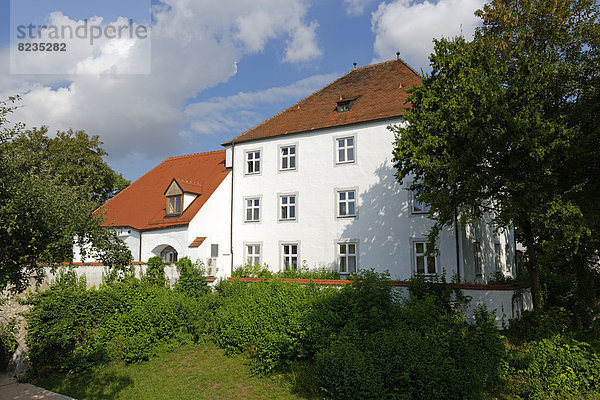
<svg viewBox="0 0 600 400">
<path fill-rule="evenodd" d="M 225 151 L 168 158 L 102 207 L 105 225 L 117 231 L 134 261 L 189 257 L 202 261 L 210 275 L 225 277 L 230 189 Z"/>
</svg>

